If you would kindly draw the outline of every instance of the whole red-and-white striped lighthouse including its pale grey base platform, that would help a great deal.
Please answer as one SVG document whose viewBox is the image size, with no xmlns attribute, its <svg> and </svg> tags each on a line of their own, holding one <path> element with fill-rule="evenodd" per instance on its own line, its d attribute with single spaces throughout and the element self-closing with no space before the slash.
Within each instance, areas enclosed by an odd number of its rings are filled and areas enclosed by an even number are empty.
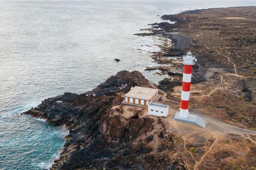
<svg viewBox="0 0 256 170">
<path fill-rule="evenodd" d="M 201 118 L 198 114 L 189 114 L 189 101 L 190 101 L 190 85 L 192 77 L 192 67 L 196 63 L 196 56 L 191 52 L 183 55 L 183 78 L 181 89 L 180 108 L 174 116 L 174 120 L 183 121 L 196 124 L 199 127 L 206 127 L 206 120 Z"/>
</svg>

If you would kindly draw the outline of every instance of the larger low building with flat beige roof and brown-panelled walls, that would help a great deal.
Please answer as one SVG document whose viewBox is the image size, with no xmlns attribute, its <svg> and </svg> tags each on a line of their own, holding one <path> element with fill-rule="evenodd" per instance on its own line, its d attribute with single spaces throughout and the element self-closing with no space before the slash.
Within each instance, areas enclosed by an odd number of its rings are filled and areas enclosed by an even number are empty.
<svg viewBox="0 0 256 170">
<path fill-rule="evenodd" d="M 155 101 L 158 96 L 158 90 L 154 88 L 146 88 L 135 86 L 125 95 L 125 102 L 134 105 L 148 106 Z"/>
</svg>

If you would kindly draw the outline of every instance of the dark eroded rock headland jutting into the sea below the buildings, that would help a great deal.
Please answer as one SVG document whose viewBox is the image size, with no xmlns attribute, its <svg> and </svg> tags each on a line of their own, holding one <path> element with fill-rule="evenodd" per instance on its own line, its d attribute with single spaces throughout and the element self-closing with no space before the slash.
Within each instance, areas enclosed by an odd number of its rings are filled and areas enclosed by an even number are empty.
<svg viewBox="0 0 256 170">
<path fill-rule="evenodd" d="M 150 154 L 152 148 L 146 140 L 135 142 L 138 137 L 152 131 L 155 124 L 153 118 L 136 115 L 123 119 L 120 115 L 110 114 L 111 108 L 120 105 L 124 99 L 119 93 L 126 93 L 135 85 L 151 87 L 140 72 L 121 71 L 91 92 L 81 95 L 65 93 L 48 98 L 36 108 L 23 113 L 45 118 L 57 126 L 65 124 L 70 130 L 63 152 L 52 169 L 104 167 L 143 170 L 158 167 L 165 170 L 168 166 L 185 169 L 182 161 L 177 164 L 177 160 L 170 160 L 170 156 L 166 158 Z M 120 111 L 118 108 L 116 110 Z M 171 138 L 167 138 L 168 144 L 161 144 L 161 151 L 164 147 L 173 149 Z M 154 161 L 148 162 L 149 157 Z"/>
</svg>

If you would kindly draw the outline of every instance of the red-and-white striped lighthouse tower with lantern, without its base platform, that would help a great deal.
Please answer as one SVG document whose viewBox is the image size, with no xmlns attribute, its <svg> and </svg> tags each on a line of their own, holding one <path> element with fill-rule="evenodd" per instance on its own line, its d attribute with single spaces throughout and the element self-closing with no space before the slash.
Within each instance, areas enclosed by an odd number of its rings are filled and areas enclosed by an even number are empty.
<svg viewBox="0 0 256 170">
<path fill-rule="evenodd" d="M 188 52 L 183 56 L 183 79 L 182 79 L 182 91 L 181 91 L 181 101 L 180 101 L 180 117 L 188 118 L 189 114 L 189 100 L 190 100 L 190 84 L 192 75 L 192 66 L 196 62 L 196 56 Z"/>
</svg>

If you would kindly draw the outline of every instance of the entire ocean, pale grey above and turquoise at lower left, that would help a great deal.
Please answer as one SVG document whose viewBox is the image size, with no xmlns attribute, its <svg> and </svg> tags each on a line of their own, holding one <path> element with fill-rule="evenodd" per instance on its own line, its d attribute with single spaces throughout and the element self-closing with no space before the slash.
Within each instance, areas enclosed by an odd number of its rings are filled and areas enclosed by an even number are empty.
<svg viewBox="0 0 256 170">
<path fill-rule="evenodd" d="M 0 0 L 0 170 L 49 169 L 60 154 L 65 127 L 20 115 L 44 98 L 89 91 L 121 70 L 163 79 L 144 71 L 157 65 L 150 56 L 163 39 L 133 35 L 147 24 L 184 10 L 251 5 L 255 0 Z"/>
</svg>

